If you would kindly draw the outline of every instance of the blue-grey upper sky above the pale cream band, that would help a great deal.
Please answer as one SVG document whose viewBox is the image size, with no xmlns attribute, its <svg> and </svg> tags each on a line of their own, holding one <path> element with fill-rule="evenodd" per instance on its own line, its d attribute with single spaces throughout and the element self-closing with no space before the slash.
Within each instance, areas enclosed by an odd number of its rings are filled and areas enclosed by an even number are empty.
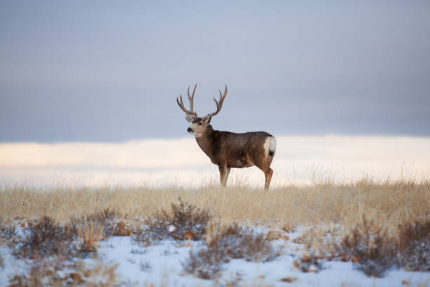
<svg viewBox="0 0 430 287">
<path fill-rule="evenodd" d="M 0 1 L 0 142 L 430 136 L 429 1 Z"/>
</svg>

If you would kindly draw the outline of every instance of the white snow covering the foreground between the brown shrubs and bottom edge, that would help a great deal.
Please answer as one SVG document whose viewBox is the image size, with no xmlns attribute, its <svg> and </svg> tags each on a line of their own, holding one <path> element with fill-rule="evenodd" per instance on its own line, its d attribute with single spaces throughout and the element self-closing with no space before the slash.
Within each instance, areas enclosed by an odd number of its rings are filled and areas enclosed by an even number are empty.
<svg viewBox="0 0 430 287">
<path fill-rule="evenodd" d="M 198 279 L 183 271 L 183 262 L 190 250 L 204 245 L 200 241 L 162 241 L 141 247 L 129 236 L 112 236 L 102 241 L 98 258 L 87 258 L 85 264 L 117 264 L 117 280 L 122 286 L 427 286 L 428 272 L 406 272 L 391 269 L 383 278 L 371 278 L 353 268 L 351 262 L 323 261 L 319 272 L 301 272 L 293 262 L 303 255 L 303 246 L 292 240 L 304 228 L 285 233 L 288 238 L 272 241 L 280 254 L 270 262 L 247 262 L 235 259 L 224 265 L 219 278 Z M 26 272 L 28 265 L 0 248 L 3 267 L 0 267 L 0 286 L 7 286 L 14 274 Z M 282 281 L 284 279 L 284 281 Z M 287 282 L 287 280 L 291 282 Z"/>
</svg>

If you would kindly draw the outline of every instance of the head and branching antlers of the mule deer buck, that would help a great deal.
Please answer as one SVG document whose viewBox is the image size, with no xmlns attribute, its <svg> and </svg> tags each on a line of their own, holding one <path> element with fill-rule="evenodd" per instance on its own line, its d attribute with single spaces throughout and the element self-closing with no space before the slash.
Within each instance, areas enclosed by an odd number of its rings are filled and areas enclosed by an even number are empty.
<svg viewBox="0 0 430 287">
<path fill-rule="evenodd" d="M 204 134 L 204 131 L 207 129 L 207 127 L 209 127 L 212 116 L 218 114 L 221 108 L 223 107 L 224 98 L 226 98 L 227 96 L 227 85 L 226 85 L 226 89 L 224 89 L 224 94 L 221 94 L 221 91 L 219 90 L 219 101 L 216 101 L 216 99 L 214 98 L 214 101 L 216 103 L 216 111 L 214 113 L 209 113 L 204 117 L 198 117 L 197 113 L 193 111 L 194 93 L 196 88 L 197 88 L 197 84 L 195 85 L 193 94 L 191 96 L 190 96 L 190 87 L 188 87 L 188 90 L 187 90 L 188 101 L 190 101 L 190 110 L 187 110 L 185 106 L 183 106 L 182 95 L 179 95 L 179 98 L 176 98 L 176 102 L 178 103 L 179 108 L 181 108 L 185 112 L 185 119 L 191 123 L 190 127 L 188 127 L 187 129 L 187 132 L 189 132 L 190 134 L 194 134 L 195 136 L 198 137 Z"/>
</svg>

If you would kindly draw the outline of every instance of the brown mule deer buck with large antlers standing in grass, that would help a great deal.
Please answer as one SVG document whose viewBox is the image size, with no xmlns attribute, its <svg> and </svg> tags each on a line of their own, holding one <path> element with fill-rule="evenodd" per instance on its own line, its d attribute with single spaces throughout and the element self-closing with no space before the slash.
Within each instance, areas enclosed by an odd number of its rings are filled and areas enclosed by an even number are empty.
<svg viewBox="0 0 430 287">
<path fill-rule="evenodd" d="M 273 170 L 271 163 L 276 150 L 275 137 L 267 132 L 245 132 L 237 134 L 234 132 L 216 131 L 210 125 L 212 116 L 219 113 L 223 107 L 224 99 L 227 96 L 227 85 L 224 93 L 219 91 L 219 101 L 216 103 L 216 111 L 209 113 L 204 117 L 198 117 L 193 110 L 194 93 L 197 84 L 194 87 L 193 94 L 190 96 L 190 87 L 188 87 L 188 100 L 190 101 L 190 110 L 183 106 L 182 96 L 176 98 L 179 108 L 185 113 L 185 118 L 191 122 L 187 131 L 195 135 L 197 144 L 202 148 L 204 153 L 209 156 L 211 162 L 218 165 L 221 179 L 221 186 L 226 186 L 228 174 L 232 167 L 252 167 L 256 165 L 264 172 L 266 182 L 264 189 L 268 189 L 271 184 Z"/>
</svg>

